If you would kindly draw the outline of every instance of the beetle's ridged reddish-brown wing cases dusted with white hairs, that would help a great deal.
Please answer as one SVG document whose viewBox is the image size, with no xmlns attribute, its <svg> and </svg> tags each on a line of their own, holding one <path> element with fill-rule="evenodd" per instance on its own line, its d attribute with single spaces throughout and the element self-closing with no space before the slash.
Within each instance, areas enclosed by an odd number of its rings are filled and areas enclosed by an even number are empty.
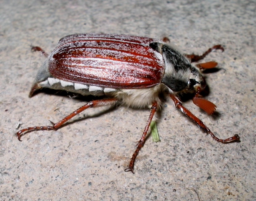
<svg viewBox="0 0 256 201">
<path fill-rule="evenodd" d="M 49 56 L 49 72 L 59 80 L 110 88 L 150 88 L 165 65 L 150 48 L 155 39 L 120 34 L 74 34 L 60 39 Z"/>
</svg>

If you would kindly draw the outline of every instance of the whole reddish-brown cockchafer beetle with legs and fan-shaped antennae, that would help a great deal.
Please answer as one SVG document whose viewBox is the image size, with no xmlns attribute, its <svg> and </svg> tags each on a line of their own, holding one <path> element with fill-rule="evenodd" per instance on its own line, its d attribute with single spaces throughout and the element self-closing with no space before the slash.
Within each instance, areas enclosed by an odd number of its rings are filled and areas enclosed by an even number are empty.
<svg viewBox="0 0 256 201">
<path fill-rule="evenodd" d="M 210 134 L 217 142 L 224 144 L 240 142 L 235 134 L 228 139 L 217 138 L 204 123 L 186 109 L 179 95 L 194 93 L 193 103 L 208 114 L 214 113 L 216 106 L 200 98 L 206 87 L 202 71 L 217 66 L 217 62 L 192 65 L 216 49 L 215 45 L 202 55 L 182 54 L 169 44 L 169 39 L 151 39 L 107 33 L 84 33 L 65 36 L 48 55 L 40 47 L 47 59 L 39 69 L 29 97 L 36 90 L 51 88 L 67 90 L 81 95 L 105 96 L 78 108 L 52 126 L 34 126 L 16 133 L 18 140 L 27 132 L 57 130 L 66 121 L 87 108 L 124 105 L 134 108 L 151 106 L 150 116 L 125 171 L 134 173 L 134 161 L 143 147 L 155 112 L 160 108 L 160 94 L 169 96 L 182 113 L 194 121 L 199 128 Z"/>
</svg>

